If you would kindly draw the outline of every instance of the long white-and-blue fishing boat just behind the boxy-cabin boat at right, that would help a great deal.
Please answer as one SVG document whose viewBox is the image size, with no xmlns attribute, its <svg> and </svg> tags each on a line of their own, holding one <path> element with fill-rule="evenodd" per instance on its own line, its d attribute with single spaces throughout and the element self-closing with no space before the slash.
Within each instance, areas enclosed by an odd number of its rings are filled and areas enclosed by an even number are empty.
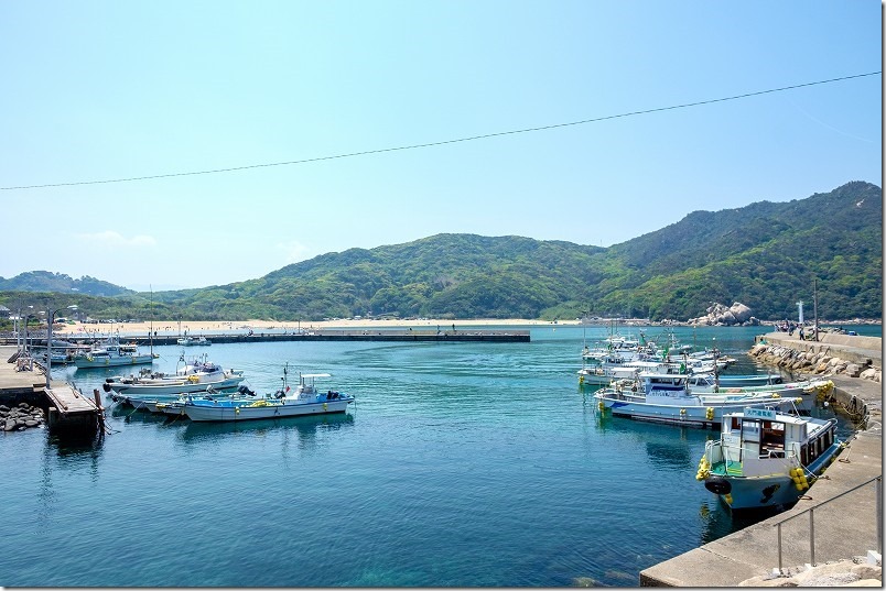
<svg viewBox="0 0 886 591">
<path fill-rule="evenodd" d="M 685 375 L 641 374 L 641 380 L 616 382 L 594 393 L 601 412 L 613 416 L 716 429 L 723 415 L 754 408 L 791 408 L 803 400 L 771 393 L 695 394 L 687 390 Z M 799 411 L 798 411 L 799 412 Z"/>
</svg>

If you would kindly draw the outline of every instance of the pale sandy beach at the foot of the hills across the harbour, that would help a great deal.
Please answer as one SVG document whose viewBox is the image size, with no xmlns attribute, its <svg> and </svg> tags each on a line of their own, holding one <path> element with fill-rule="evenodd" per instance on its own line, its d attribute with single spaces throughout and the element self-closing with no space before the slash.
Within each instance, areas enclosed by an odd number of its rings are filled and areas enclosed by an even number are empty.
<svg viewBox="0 0 886 591">
<path fill-rule="evenodd" d="M 187 331 L 188 335 L 210 335 L 219 333 L 229 330 L 281 330 L 295 331 L 302 330 L 316 330 L 324 328 L 433 328 L 442 329 L 452 328 L 466 328 L 476 326 L 538 326 L 538 325 L 553 325 L 548 320 L 527 320 L 521 318 L 515 319 L 480 319 L 480 320 L 440 320 L 440 319 L 421 319 L 421 320 L 321 320 L 301 322 L 294 321 L 272 321 L 272 320 L 237 320 L 237 321 L 193 321 L 182 320 L 181 332 Z M 558 320 L 558 325 L 577 325 L 579 320 Z M 153 322 L 117 322 L 117 324 L 74 324 L 74 325 L 56 325 L 53 332 L 56 335 L 83 335 L 83 333 L 120 333 L 120 335 L 145 335 L 150 330 L 155 330 L 158 335 L 177 335 L 179 322 L 170 322 L 169 320 L 155 320 Z"/>
</svg>

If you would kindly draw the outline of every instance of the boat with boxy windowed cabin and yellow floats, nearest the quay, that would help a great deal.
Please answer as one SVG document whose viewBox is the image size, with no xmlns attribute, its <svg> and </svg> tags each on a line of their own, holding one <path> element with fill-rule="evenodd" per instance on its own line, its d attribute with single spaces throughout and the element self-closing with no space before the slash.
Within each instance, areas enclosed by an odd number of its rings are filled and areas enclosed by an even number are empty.
<svg viewBox="0 0 886 591">
<path fill-rule="evenodd" d="M 733 511 L 787 507 L 843 447 L 835 418 L 745 408 L 723 416 L 720 440 L 705 444 L 695 478 Z"/>
</svg>

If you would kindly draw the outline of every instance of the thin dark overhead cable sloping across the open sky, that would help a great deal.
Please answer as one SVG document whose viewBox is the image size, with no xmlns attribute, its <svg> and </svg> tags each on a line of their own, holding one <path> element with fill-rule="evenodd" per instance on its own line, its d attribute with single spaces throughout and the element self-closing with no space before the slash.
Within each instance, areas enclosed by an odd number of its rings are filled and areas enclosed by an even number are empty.
<svg viewBox="0 0 886 591">
<path fill-rule="evenodd" d="M 134 180 L 151 180 L 155 178 L 172 178 L 176 176 L 196 176 L 196 175 L 204 175 L 204 174 L 218 174 L 218 173 L 231 173 L 236 171 L 248 171 L 251 168 L 268 168 L 271 166 L 290 166 L 294 164 L 307 164 L 311 162 L 322 162 L 325 160 L 338 160 L 338 158 L 350 158 L 355 156 L 367 156 L 369 154 L 383 154 L 385 152 L 398 152 L 401 150 L 417 150 L 420 147 L 433 147 L 437 145 L 446 145 L 446 144 L 454 144 L 460 142 L 473 142 L 476 140 L 486 140 L 488 138 L 498 138 L 501 135 L 514 135 L 517 133 L 529 133 L 533 131 L 544 131 L 550 129 L 557 128 L 568 128 L 571 125 L 584 125 L 586 123 L 596 123 L 599 121 L 606 121 L 609 119 L 620 119 L 623 117 L 634 117 L 637 114 L 648 114 L 655 113 L 660 111 L 672 111 L 674 109 L 687 109 L 690 107 L 700 107 L 702 105 L 713 105 L 715 102 L 725 102 L 728 100 L 738 100 L 748 97 L 757 97 L 760 95 L 769 95 L 772 92 L 784 92 L 785 90 L 793 90 L 797 88 L 803 88 L 808 86 L 817 86 L 822 84 L 831 84 L 831 83 L 839 83 L 843 80 L 850 80 L 853 78 L 863 78 L 865 76 L 876 76 L 877 74 L 882 74 L 882 70 L 877 72 L 868 72 L 866 74 L 854 74 L 852 76 L 842 76 L 840 78 L 830 78 L 828 80 L 818 80 L 814 83 L 804 83 L 804 84 L 797 84 L 792 86 L 782 86 L 780 88 L 770 88 L 768 90 L 758 90 L 756 92 L 745 92 L 744 95 L 734 95 L 731 97 L 723 97 L 716 99 L 709 99 L 709 100 L 700 100 L 696 102 L 684 102 L 682 105 L 671 105 L 670 107 L 658 107 L 655 109 L 645 109 L 641 111 L 630 111 L 626 113 L 618 113 L 618 114 L 609 114 L 605 117 L 596 117 L 593 119 L 583 119 L 581 121 L 570 121 L 569 123 L 554 123 L 551 125 L 542 125 L 538 128 L 526 128 L 526 129 L 517 129 L 517 130 L 509 130 L 509 131 L 498 131 L 495 133 L 484 133 L 482 135 L 471 135 L 467 138 L 457 138 L 454 140 L 442 140 L 439 142 L 428 142 L 423 144 L 410 144 L 410 145 L 400 145 L 395 147 L 381 147 L 378 150 L 366 150 L 363 152 L 349 152 L 346 154 L 335 154 L 332 156 L 316 156 L 313 158 L 303 158 L 303 160 L 293 160 L 288 162 L 272 162 L 266 164 L 248 164 L 244 166 L 233 166 L 229 168 L 213 168 L 208 171 L 191 171 L 185 173 L 168 173 L 168 174 L 156 174 L 156 175 L 147 175 L 147 176 L 131 176 L 127 178 L 107 178 L 101 180 L 77 180 L 73 183 L 53 183 L 53 184 L 45 184 L 45 185 L 23 185 L 18 187 L 0 187 L 0 190 L 13 190 L 13 189 L 40 189 L 40 188 L 48 188 L 48 187 L 72 187 L 76 185 L 102 185 L 109 183 L 131 183 Z"/>
</svg>

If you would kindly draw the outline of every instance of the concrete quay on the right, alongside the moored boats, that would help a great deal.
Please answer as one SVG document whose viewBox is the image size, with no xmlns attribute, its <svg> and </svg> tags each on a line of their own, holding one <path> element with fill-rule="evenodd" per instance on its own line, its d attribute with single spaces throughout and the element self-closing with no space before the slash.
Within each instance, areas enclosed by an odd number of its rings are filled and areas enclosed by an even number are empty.
<svg viewBox="0 0 886 591">
<path fill-rule="evenodd" d="M 863 342 L 854 339 L 865 337 L 847 337 L 843 344 L 775 337 L 786 347 L 791 346 L 787 340 L 796 340 L 797 347 L 828 344 L 843 359 L 854 354 L 860 362 L 871 360 L 871 364 L 882 366 L 880 351 L 868 348 L 879 346 L 879 338 Z M 878 494 L 883 491 L 883 386 L 846 375 L 830 380 L 840 406 L 849 407 L 857 401 L 867 406 L 869 416 L 866 428 L 855 434 L 806 497 L 784 513 L 642 570 L 641 587 L 735 587 L 754 577 L 771 576 L 779 567 L 779 523 L 785 567 L 780 572 L 785 574 L 807 563 L 882 552 L 883 504 Z"/>
</svg>

